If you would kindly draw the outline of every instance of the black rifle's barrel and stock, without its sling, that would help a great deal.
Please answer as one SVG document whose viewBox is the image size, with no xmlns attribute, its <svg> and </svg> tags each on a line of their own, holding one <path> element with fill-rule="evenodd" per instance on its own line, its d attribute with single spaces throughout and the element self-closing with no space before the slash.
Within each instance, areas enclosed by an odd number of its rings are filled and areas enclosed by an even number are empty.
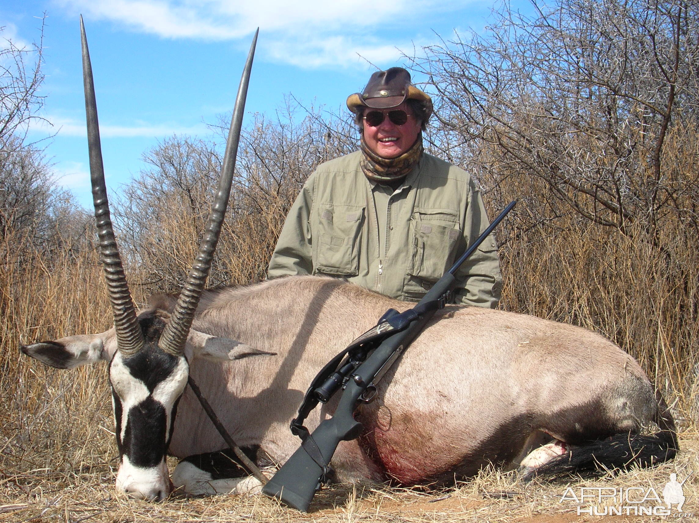
<svg viewBox="0 0 699 523">
<path fill-rule="evenodd" d="M 456 271 L 461 264 L 473 253 L 473 251 L 489 236 L 493 229 L 512 210 L 517 201 L 512 201 L 498 217 L 476 239 L 466 252 L 456 260 L 449 271 L 440 278 L 425 296 L 417 303 L 415 308 L 424 304 L 443 299 L 454 287 L 456 287 Z M 442 302 L 443 306 L 443 302 Z M 375 379 L 377 373 L 382 371 L 384 365 L 394 363 L 396 354 L 403 350 L 420 334 L 425 325 L 433 317 L 436 309 L 427 310 L 412 320 L 405 329 L 391 334 L 356 368 L 349 376 L 335 414 L 329 420 L 321 422 L 313 431 L 312 440 L 315 440 L 317 450 L 322 454 L 322 461 L 330 463 L 340 441 L 352 440 L 359 436 L 362 424 L 354 419 L 354 409 L 361 394 Z M 393 358 L 392 358 L 393 357 Z M 301 445 L 287 462 L 279 469 L 274 477 L 262 488 L 263 494 L 275 497 L 288 506 L 306 512 L 310 505 L 321 476 L 324 473 L 322 466 L 317 464 L 310 454 Z"/>
</svg>

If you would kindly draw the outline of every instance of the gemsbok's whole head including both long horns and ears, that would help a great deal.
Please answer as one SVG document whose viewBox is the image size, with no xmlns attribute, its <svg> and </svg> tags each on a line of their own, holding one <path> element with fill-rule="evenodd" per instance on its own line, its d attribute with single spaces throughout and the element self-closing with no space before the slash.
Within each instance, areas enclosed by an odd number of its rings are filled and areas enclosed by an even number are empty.
<svg viewBox="0 0 699 523">
<path fill-rule="evenodd" d="M 187 387 L 188 361 L 194 357 L 230 361 L 268 354 L 228 338 L 217 338 L 191 329 L 228 206 L 257 34 L 240 80 L 217 195 L 199 255 L 172 315 L 151 309 L 137 317 L 110 220 L 92 66 L 82 17 L 80 31 L 92 194 L 115 326 L 101 334 L 34 343 L 22 346 L 21 350 L 58 368 L 109 362 L 115 434 L 120 454 L 117 488 L 140 499 L 162 500 L 171 492 L 166 454 L 177 404 Z"/>
</svg>

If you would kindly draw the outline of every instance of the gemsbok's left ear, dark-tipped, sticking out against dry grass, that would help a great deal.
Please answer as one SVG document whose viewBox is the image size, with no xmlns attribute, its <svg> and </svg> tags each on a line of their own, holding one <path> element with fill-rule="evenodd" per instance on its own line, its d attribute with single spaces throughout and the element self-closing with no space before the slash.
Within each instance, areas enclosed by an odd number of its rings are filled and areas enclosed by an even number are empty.
<svg viewBox="0 0 699 523">
<path fill-rule="evenodd" d="M 96 364 L 110 359 L 110 355 L 104 350 L 103 339 L 108 332 L 41 341 L 22 345 L 20 350 L 27 356 L 55 368 L 75 368 L 85 364 Z"/>
</svg>

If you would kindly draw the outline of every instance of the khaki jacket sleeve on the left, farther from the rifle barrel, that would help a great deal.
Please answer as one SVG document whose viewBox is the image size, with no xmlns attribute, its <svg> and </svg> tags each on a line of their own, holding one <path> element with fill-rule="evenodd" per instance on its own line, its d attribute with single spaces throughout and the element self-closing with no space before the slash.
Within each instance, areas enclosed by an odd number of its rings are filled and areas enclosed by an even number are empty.
<svg viewBox="0 0 699 523">
<path fill-rule="evenodd" d="M 310 210 L 313 203 L 309 178 L 296 196 L 277 240 L 267 278 L 313 273 Z"/>
</svg>

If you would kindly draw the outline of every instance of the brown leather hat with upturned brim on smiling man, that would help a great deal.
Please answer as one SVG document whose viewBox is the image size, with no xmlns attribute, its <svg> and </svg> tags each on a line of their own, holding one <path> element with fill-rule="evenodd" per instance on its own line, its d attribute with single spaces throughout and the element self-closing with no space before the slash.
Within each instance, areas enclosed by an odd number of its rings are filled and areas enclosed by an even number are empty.
<svg viewBox="0 0 699 523">
<path fill-rule="evenodd" d="M 401 105 L 407 99 L 425 103 L 427 117 L 432 113 L 432 99 L 410 83 L 410 73 L 402 67 L 376 71 L 369 78 L 363 93 L 350 94 L 347 108 L 359 113 L 365 107 L 387 109 Z"/>
</svg>

